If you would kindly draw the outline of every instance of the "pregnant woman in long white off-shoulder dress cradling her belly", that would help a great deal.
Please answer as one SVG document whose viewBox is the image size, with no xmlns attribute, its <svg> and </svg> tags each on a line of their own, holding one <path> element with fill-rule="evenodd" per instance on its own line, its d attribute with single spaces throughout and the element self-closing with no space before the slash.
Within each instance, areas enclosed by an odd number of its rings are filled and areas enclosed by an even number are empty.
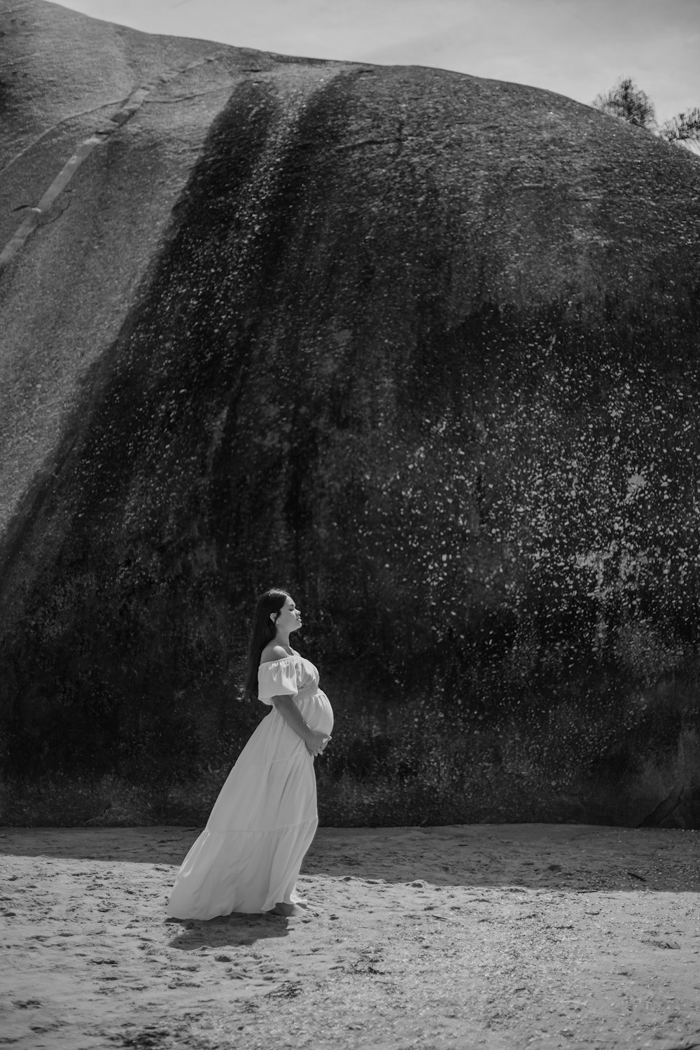
<svg viewBox="0 0 700 1050">
<path fill-rule="evenodd" d="M 300 915 L 295 892 L 318 826 L 314 757 L 331 739 L 333 710 L 318 671 L 290 645 L 301 615 L 283 590 L 255 610 L 246 693 L 272 710 L 238 756 L 205 831 L 177 873 L 168 915 Z"/>
</svg>

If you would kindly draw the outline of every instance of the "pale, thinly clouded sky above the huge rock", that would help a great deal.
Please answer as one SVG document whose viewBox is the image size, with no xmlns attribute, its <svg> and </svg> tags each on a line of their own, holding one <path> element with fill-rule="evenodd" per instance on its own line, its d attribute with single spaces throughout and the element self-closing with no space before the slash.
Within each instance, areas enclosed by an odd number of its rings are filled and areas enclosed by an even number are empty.
<svg viewBox="0 0 700 1050">
<path fill-rule="evenodd" d="M 591 103 L 620 76 L 659 122 L 700 106 L 700 0 L 71 0 L 93 18 L 282 55 L 425 65 Z"/>
</svg>

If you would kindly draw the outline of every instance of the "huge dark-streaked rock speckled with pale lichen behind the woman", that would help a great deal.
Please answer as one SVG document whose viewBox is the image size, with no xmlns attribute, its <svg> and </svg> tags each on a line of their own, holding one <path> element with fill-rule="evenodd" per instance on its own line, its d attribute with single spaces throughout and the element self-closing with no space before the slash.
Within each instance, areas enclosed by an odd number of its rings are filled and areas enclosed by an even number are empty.
<svg viewBox="0 0 700 1050">
<path fill-rule="evenodd" d="M 281 584 L 328 819 L 697 824 L 698 160 L 522 85 L 23 10 L 3 243 L 98 140 L 0 277 L 10 773 L 228 761 Z"/>
</svg>

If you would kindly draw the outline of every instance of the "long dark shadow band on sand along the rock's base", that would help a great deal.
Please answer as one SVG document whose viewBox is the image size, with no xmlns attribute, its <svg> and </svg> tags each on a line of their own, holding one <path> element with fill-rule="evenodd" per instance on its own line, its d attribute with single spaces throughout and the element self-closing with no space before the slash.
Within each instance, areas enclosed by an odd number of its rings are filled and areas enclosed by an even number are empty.
<svg viewBox="0 0 700 1050">
<path fill-rule="evenodd" d="M 0 830 L 0 854 L 151 864 L 163 873 L 165 885 L 174 880 L 199 832 L 199 827 L 6 827 Z M 699 832 L 587 824 L 322 827 L 304 859 L 302 875 L 407 885 L 423 880 L 484 888 L 700 892 L 699 845 Z M 270 921 L 283 922 L 277 916 Z"/>
</svg>

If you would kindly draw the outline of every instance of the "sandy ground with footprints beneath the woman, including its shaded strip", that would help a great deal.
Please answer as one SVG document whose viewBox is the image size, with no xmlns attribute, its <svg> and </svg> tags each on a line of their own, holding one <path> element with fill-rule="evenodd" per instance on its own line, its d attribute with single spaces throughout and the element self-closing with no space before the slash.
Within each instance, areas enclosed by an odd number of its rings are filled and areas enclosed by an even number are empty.
<svg viewBox="0 0 700 1050">
<path fill-rule="evenodd" d="M 165 917 L 199 828 L 4 828 L 0 1046 L 700 1047 L 700 833 L 322 828 L 299 919 Z"/>
</svg>

